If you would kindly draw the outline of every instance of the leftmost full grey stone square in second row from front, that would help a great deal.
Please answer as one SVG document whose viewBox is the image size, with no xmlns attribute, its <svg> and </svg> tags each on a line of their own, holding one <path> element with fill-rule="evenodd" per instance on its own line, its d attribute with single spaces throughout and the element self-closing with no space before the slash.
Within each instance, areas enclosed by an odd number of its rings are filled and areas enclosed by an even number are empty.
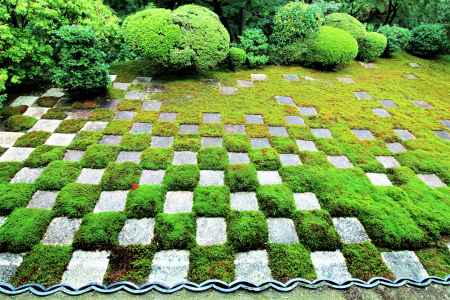
<svg viewBox="0 0 450 300">
<path fill-rule="evenodd" d="M 70 245 L 80 225 L 81 219 L 54 218 L 47 228 L 42 243 L 46 245 Z"/>
</svg>

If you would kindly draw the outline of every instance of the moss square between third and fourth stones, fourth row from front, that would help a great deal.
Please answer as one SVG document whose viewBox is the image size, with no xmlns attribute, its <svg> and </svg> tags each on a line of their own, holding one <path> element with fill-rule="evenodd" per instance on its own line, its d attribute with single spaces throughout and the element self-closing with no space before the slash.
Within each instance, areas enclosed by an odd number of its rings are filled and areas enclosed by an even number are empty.
<svg viewBox="0 0 450 300">
<path fill-rule="evenodd" d="M 164 185 L 171 191 L 193 191 L 200 179 L 196 165 L 170 166 L 164 176 Z"/>
</svg>

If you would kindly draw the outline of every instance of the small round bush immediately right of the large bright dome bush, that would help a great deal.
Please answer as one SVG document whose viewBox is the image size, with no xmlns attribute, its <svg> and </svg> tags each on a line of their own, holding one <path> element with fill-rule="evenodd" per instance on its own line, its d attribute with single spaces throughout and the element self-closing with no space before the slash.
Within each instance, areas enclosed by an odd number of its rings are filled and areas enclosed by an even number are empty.
<svg viewBox="0 0 450 300">
<path fill-rule="evenodd" d="M 387 38 L 378 32 L 368 32 L 358 40 L 358 59 L 361 61 L 374 61 L 380 57 L 386 49 Z"/>
</svg>

